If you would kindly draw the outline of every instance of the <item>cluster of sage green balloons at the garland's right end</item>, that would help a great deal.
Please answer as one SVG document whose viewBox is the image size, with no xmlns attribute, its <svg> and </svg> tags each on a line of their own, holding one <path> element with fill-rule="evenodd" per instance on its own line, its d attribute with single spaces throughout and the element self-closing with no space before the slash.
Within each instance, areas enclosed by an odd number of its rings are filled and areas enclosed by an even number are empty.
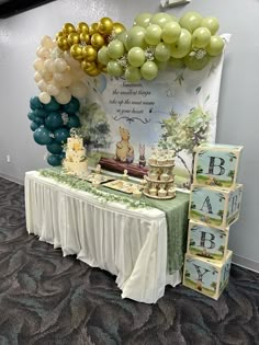
<svg viewBox="0 0 259 345">
<path fill-rule="evenodd" d="M 98 60 L 109 74 L 125 74 L 130 82 L 153 80 L 167 65 L 200 70 L 223 51 L 218 27 L 216 18 L 202 18 L 198 12 L 188 12 L 179 21 L 164 12 L 142 13 L 132 28 L 99 50 Z"/>
</svg>

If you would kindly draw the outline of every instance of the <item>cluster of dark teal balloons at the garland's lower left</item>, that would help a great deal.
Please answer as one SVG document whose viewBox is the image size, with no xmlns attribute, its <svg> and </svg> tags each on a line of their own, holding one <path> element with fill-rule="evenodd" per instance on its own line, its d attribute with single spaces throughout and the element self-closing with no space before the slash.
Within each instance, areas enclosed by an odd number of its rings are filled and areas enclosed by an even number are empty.
<svg viewBox="0 0 259 345">
<path fill-rule="evenodd" d="M 63 105 L 53 96 L 50 102 L 42 103 L 38 96 L 30 100 L 31 111 L 27 114 L 33 130 L 33 138 L 38 145 L 46 145 L 48 164 L 56 166 L 64 159 L 63 145 L 67 141 L 71 128 L 80 127 L 79 101 L 71 97 L 70 102 Z"/>
</svg>

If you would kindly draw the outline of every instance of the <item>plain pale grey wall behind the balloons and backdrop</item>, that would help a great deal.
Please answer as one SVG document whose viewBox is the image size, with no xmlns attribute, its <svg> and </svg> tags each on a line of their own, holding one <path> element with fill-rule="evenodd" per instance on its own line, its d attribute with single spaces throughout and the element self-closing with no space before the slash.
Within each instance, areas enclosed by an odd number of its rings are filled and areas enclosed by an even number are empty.
<svg viewBox="0 0 259 345">
<path fill-rule="evenodd" d="M 25 171 L 47 166 L 45 148 L 30 130 L 29 100 L 38 94 L 33 80 L 35 49 L 43 35 L 54 36 L 65 22 L 92 23 L 111 16 L 131 26 L 140 12 L 160 11 L 159 0 L 58 0 L 0 20 L 0 174 L 23 181 Z M 215 15 L 219 33 L 232 33 L 227 46 L 218 107 L 217 142 L 244 145 L 239 182 L 245 184 L 240 219 L 230 229 L 229 248 L 235 261 L 259 271 L 259 2 L 257 0 L 192 0 L 168 10 L 180 16 L 194 10 Z M 7 162 L 10 154 L 11 162 Z"/>
</svg>

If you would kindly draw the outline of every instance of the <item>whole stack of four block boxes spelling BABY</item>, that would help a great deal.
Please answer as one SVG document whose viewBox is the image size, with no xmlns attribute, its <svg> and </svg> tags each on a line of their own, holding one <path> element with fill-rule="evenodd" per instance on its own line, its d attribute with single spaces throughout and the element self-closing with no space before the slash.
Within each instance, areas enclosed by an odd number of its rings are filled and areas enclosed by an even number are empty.
<svg viewBox="0 0 259 345">
<path fill-rule="evenodd" d="M 195 149 L 183 285 L 213 299 L 229 278 L 233 253 L 227 245 L 240 210 L 243 185 L 236 180 L 241 149 L 207 143 Z"/>
</svg>

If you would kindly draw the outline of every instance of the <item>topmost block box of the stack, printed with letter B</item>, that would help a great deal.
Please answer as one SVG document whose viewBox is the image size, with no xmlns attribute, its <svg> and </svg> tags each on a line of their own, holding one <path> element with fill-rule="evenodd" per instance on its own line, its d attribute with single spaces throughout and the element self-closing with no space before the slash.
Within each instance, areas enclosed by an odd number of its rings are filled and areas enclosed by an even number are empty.
<svg viewBox="0 0 259 345">
<path fill-rule="evenodd" d="M 235 189 L 241 146 L 203 143 L 194 149 L 193 184 Z"/>
</svg>

